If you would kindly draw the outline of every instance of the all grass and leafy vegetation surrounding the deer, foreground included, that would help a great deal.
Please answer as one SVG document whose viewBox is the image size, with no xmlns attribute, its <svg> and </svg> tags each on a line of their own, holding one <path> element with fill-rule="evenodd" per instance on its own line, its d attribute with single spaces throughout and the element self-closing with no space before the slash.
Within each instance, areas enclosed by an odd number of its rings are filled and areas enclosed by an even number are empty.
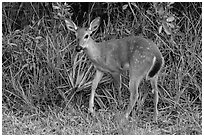
<svg viewBox="0 0 204 137">
<path fill-rule="evenodd" d="M 95 69 L 76 53 L 64 18 L 87 26 L 101 17 L 96 41 L 141 35 L 160 48 L 159 120 L 149 81 L 127 124 L 107 74 L 88 112 Z M 202 134 L 202 3 L 2 3 L 2 134 Z"/>
</svg>

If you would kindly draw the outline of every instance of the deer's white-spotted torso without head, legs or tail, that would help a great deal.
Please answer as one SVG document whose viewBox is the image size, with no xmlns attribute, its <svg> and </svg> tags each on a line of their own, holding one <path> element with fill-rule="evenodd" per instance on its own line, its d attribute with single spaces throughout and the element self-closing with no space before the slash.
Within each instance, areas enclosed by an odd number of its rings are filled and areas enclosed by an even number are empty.
<svg viewBox="0 0 204 137">
<path fill-rule="evenodd" d="M 97 69 L 110 73 L 129 69 L 131 60 L 137 64 L 147 63 L 149 70 L 153 57 L 161 56 L 154 43 L 136 36 L 90 44 L 85 52 Z"/>
</svg>

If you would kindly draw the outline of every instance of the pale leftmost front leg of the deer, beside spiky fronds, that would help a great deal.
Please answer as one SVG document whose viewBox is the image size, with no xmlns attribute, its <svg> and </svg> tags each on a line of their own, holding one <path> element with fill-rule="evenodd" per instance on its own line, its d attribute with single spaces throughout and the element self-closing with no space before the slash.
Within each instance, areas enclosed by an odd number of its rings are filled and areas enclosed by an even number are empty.
<svg viewBox="0 0 204 137">
<path fill-rule="evenodd" d="M 94 95 L 95 95 L 95 91 L 96 88 L 98 86 L 99 81 L 101 80 L 101 78 L 103 77 L 103 72 L 97 70 L 95 77 L 93 79 L 92 82 L 92 87 L 91 87 L 91 96 L 90 96 L 90 100 L 89 100 L 89 111 L 94 114 Z"/>
</svg>

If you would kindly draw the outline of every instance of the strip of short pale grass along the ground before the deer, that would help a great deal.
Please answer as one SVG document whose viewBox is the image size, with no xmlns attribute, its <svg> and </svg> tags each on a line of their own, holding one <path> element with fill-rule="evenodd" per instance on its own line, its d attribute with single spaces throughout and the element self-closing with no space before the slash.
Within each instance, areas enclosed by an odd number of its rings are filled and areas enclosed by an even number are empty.
<svg viewBox="0 0 204 137">
<path fill-rule="evenodd" d="M 187 114 L 160 116 L 157 124 L 146 115 L 130 118 L 126 125 L 119 125 L 117 114 L 100 110 L 93 117 L 75 109 L 67 111 L 49 111 L 47 114 L 13 114 L 3 107 L 3 135 L 166 135 L 201 134 L 200 116 Z M 144 112 L 143 112 L 144 113 Z M 191 118 L 191 119 L 189 119 Z M 193 119 L 198 118 L 198 119 Z"/>
</svg>

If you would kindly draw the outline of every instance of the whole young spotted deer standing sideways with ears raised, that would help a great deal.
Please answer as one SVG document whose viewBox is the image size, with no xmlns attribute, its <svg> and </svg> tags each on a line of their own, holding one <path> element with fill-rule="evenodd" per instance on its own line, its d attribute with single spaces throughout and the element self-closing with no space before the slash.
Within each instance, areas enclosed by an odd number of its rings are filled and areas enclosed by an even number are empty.
<svg viewBox="0 0 204 137">
<path fill-rule="evenodd" d="M 91 34 L 100 25 L 100 17 L 95 18 L 89 27 L 78 27 L 71 19 L 65 19 L 68 30 L 76 35 L 76 51 L 83 51 L 95 66 L 96 73 L 92 81 L 89 99 L 89 111 L 94 114 L 94 95 L 104 73 L 112 75 L 121 96 L 121 74 L 129 70 L 130 103 L 124 113 L 128 119 L 135 103 L 138 100 L 138 87 L 143 80 L 150 80 L 154 93 L 153 119 L 158 115 L 158 75 L 163 67 L 164 59 L 157 45 L 150 39 L 142 36 L 129 36 L 121 39 L 95 42 Z M 119 97 L 121 98 L 121 97 Z"/>
</svg>

